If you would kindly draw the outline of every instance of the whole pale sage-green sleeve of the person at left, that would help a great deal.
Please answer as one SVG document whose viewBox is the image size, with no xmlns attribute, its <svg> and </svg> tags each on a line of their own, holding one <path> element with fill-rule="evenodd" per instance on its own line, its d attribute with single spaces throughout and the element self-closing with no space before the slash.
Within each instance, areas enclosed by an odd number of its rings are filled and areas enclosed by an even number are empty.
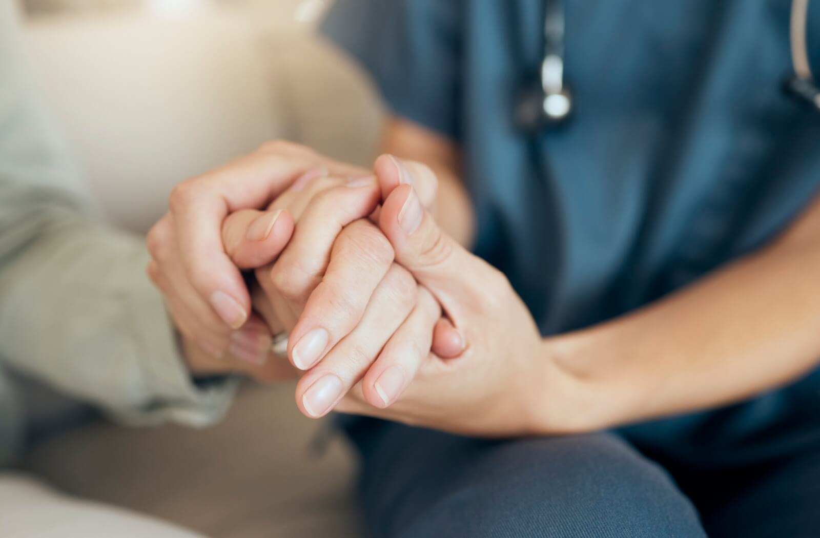
<svg viewBox="0 0 820 538">
<path fill-rule="evenodd" d="M 234 382 L 190 380 L 143 240 L 98 223 L 0 2 L 0 362 L 133 423 L 193 426 Z"/>
</svg>

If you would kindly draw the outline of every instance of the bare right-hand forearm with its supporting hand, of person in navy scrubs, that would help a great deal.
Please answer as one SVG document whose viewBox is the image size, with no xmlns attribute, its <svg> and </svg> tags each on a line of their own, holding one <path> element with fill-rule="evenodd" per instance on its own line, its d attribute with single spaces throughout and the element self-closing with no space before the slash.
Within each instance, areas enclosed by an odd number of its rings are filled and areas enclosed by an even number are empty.
<svg viewBox="0 0 820 538">
<path fill-rule="evenodd" d="M 403 130 L 404 122 L 390 129 Z M 427 154 L 449 147 L 430 149 L 437 135 L 417 126 L 392 136 L 408 137 L 420 137 L 409 145 Z M 430 358 L 389 409 L 367 408 L 352 394 L 339 406 L 348 412 L 471 435 L 585 432 L 736 402 L 818 367 L 820 198 L 772 244 L 722 271 L 629 315 L 539 345 L 508 285 L 431 225 L 430 213 L 412 235 L 403 232 L 408 200 L 407 188 L 395 188 L 380 227 L 396 260 L 465 335 L 467 350 L 453 362 Z M 485 303 L 493 307 L 482 308 Z M 501 371 L 493 361 L 503 364 Z"/>
</svg>

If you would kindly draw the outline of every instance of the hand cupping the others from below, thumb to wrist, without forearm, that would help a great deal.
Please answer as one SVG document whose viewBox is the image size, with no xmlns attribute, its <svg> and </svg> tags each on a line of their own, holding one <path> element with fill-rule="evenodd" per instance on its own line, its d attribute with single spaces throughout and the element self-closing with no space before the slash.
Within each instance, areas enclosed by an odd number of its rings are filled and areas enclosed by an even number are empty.
<svg viewBox="0 0 820 538">
<path fill-rule="evenodd" d="M 338 409 L 466 435 L 528 435 L 572 430 L 569 405 L 580 382 L 550 357 L 530 312 L 502 273 L 437 226 L 408 185 L 380 177 L 389 196 L 380 229 L 396 261 L 426 286 L 467 348 L 459 358 L 433 354 L 387 409 L 354 391 Z M 398 185 L 398 186 L 397 186 Z M 546 403 L 544 403 L 546 402 Z"/>
</svg>

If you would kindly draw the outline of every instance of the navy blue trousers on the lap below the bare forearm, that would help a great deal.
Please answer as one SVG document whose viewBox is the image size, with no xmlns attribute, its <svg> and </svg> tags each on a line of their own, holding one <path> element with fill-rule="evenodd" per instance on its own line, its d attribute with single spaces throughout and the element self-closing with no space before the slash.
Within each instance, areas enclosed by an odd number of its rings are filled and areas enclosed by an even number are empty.
<svg viewBox="0 0 820 538">
<path fill-rule="evenodd" d="M 708 413 L 475 440 L 360 420 L 377 538 L 817 538 L 820 374 Z"/>
</svg>

